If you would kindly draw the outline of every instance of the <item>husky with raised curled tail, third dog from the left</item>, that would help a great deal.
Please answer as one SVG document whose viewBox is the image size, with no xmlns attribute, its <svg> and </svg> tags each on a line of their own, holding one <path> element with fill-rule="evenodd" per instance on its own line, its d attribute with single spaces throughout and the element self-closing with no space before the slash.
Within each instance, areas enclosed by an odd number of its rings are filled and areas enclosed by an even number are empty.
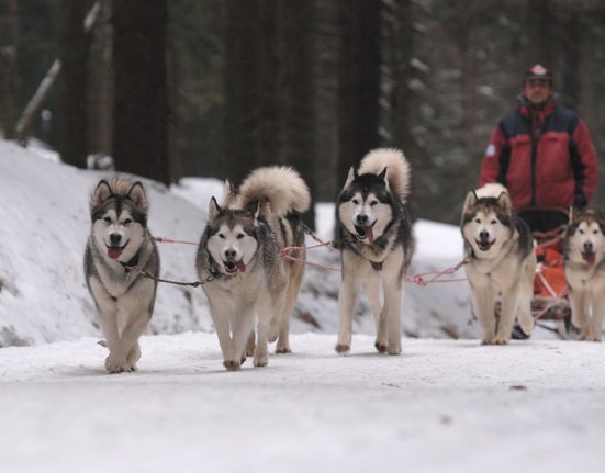
<svg viewBox="0 0 605 473">
<path fill-rule="evenodd" d="M 410 165 L 399 149 L 370 151 L 359 170 L 350 169 L 340 191 L 336 205 L 343 268 L 338 353 L 350 351 L 352 314 L 361 289 L 376 319 L 377 350 L 401 352 L 403 282 L 414 247 L 408 191 Z"/>
</svg>

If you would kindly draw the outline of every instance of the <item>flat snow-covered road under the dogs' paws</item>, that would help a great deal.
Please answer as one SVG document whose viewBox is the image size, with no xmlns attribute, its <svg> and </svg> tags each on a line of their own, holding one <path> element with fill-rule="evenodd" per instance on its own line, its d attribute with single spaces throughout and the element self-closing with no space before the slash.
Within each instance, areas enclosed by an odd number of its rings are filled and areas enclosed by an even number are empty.
<svg viewBox="0 0 605 473">
<path fill-rule="evenodd" d="M 144 337 L 107 375 L 96 339 L 0 349 L 0 471 L 603 471 L 605 346 L 294 335 L 222 369 L 213 334 Z"/>
</svg>

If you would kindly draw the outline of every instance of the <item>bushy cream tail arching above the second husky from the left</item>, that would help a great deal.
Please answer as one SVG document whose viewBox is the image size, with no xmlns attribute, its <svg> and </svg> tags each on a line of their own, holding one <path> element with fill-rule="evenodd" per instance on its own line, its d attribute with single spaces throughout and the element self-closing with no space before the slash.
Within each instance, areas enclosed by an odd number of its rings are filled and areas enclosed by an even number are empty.
<svg viewBox="0 0 605 473">
<path fill-rule="evenodd" d="M 283 216 L 309 210 L 311 194 L 294 169 L 272 166 L 256 169 L 239 187 L 236 206 L 247 209 L 254 202 L 268 202 L 273 214 Z"/>
</svg>

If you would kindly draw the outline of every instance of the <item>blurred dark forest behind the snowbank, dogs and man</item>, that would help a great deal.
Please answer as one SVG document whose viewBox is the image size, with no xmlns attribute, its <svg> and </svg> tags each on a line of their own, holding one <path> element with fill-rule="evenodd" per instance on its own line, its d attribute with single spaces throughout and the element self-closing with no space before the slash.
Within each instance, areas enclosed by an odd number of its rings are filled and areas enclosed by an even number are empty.
<svg viewBox="0 0 605 473">
<path fill-rule="evenodd" d="M 415 215 L 457 223 L 536 63 L 605 169 L 604 44 L 598 0 L 0 0 L 0 123 L 66 162 L 108 154 L 166 183 L 291 165 L 316 201 L 333 201 L 371 147 L 401 147 Z"/>
</svg>

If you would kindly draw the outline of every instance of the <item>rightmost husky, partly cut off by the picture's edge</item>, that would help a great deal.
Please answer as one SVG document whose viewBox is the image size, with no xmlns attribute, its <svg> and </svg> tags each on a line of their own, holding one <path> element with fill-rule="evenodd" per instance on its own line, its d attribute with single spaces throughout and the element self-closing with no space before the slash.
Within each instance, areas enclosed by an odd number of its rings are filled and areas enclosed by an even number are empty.
<svg viewBox="0 0 605 473">
<path fill-rule="evenodd" d="M 571 304 L 571 323 L 580 329 L 580 339 L 601 341 L 605 316 L 603 212 L 571 212 L 563 239 L 563 266 Z"/>
</svg>

